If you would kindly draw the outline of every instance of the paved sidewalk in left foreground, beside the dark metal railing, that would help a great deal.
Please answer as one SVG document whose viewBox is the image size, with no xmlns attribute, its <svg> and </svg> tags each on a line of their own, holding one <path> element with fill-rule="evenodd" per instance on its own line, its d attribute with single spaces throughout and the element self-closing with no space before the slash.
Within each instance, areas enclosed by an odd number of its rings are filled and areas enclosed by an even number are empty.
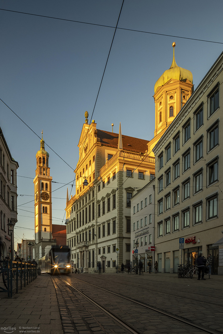
<svg viewBox="0 0 223 334">
<path fill-rule="evenodd" d="M 0 334 L 63 334 L 57 296 L 51 278 L 38 275 L 27 287 L 0 294 Z"/>
</svg>

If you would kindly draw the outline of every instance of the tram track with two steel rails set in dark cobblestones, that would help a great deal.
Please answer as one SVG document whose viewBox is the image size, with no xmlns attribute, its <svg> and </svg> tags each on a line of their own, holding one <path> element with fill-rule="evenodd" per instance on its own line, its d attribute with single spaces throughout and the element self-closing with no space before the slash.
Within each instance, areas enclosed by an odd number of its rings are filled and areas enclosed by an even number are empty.
<svg viewBox="0 0 223 334">
<path fill-rule="evenodd" d="M 151 328 L 152 325 L 155 325 L 155 320 L 152 320 L 151 323 L 149 319 L 158 319 L 159 323 L 165 323 L 167 327 L 170 327 L 170 333 L 177 332 L 176 328 L 182 329 L 182 327 L 188 334 L 198 332 L 211 334 L 220 333 L 217 330 L 205 327 L 203 324 L 195 323 L 189 319 L 185 319 L 173 313 L 166 312 L 165 310 L 161 310 L 157 307 L 127 297 L 124 294 L 98 287 L 95 284 L 85 282 L 74 277 L 53 277 L 52 280 L 54 281 L 54 284 L 61 289 L 63 289 L 63 287 L 65 286 L 64 283 L 66 283 L 67 289 L 69 289 L 69 291 L 71 291 L 73 295 L 77 296 L 78 294 L 79 296 L 99 308 L 110 319 L 112 319 L 114 322 L 118 323 L 119 326 L 124 328 L 125 333 L 143 334 L 144 332 L 146 332 L 146 330 Z M 103 298 L 101 298 L 102 295 Z M 114 305 L 112 305 L 112 303 L 108 303 L 108 301 L 112 300 L 111 295 L 115 296 L 115 299 L 113 299 Z M 98 296 L 100 296 L 100 298 L 98 298 Z M 128 313 L 123 312 L 123 309 L 127 309 Z M 134 313 L 136 313 L 134 310 L 137 310 L 138 316 L 136 316 L 136 323 L 134 322 L 134 326 L 132 326 L 129 320 L 126 321 L 126 314 L 129 314 L 130 320 L 134 319 Z M 148 323 L 146 325 L 142 325 L 143 321 L 145 323 L 145 317 L 143 317 L 145 313 L 147 314 Z M 155 327 L 153 329 L 155 330 Z M 159 333 L 158 330 L 157 332 Z M 114 333 L 119 332 L 115 331 Z"/>
</svg>

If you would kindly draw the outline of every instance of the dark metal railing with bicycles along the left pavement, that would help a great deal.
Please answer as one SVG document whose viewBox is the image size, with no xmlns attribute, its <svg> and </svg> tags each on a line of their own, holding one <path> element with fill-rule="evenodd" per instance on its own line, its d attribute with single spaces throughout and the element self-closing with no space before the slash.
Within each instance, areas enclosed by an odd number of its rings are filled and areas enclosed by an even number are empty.
<svg viewBox="0 0 223 334">
<path fill-rule="evenodd" d="M 8 297 L 12 298 L 12 291 L 18 293 L 22 287 L 30 284 L 37 278 L 36 265 L 31 263 L 16 261 L 0 261 L 0 274 L 4 288 L 0 286 L 0 292 L 8 292 Z"/>
</svg>

